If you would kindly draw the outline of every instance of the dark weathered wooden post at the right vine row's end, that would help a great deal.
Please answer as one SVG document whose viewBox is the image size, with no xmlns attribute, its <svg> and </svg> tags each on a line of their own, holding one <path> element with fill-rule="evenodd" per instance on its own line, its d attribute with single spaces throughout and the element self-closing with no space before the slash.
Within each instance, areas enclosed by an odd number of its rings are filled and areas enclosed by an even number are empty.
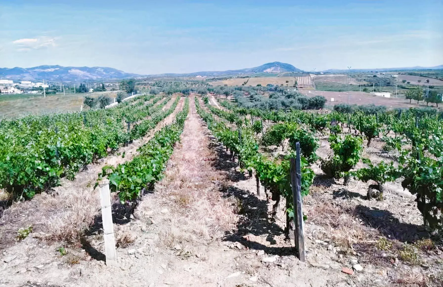
<svg viewBox="0 0 443 287">
<path fill-rule="evenodd" d="M 300 261 L 304 262 L 306 253 L 304 248 L 303 234 L 303 207 L 301 194 L 301 168 L 300 168 L 300 143 L 295 143 L 296 158 L 291 158 L 291 186 L 292 199 L 294 204 L 294 224 L 295 224 L 295 248 L 299 254 Z"/>
</svg>

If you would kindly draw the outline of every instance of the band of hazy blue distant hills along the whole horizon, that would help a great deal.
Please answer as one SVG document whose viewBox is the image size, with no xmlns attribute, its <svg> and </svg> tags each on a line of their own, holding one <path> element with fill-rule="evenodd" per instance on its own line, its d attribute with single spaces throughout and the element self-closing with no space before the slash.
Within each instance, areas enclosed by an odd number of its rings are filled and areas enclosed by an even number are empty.
<svg viewBox="0 0 443 287">
<path fill-rule="evenodd" d="M 355 72 L 369 72 L 369 71 L 396 71 L 396 70 L 437 70 L 443 69 L 443 65 L 435 67 L 408 67 L 408 68 L 374 68 L 374 69 L 351 69 Z M 282 62 L 266 63 L 258 67 L 244 68 L 239 70 L 227 71 L 207 71 L 207 72 L 193 72 L 185 74 L 157 74 L 157 75 L 139 75 L 134 73 L 123 72 L 114 68 L 108 67 L 63 67 L 59 65 L 42 65 L 33 68 L 0 68 L 0 79 L 12 80 L 34 80 L 41 81 L 59 81 L 59 82 L 74 82 L 93 80 L 100 81 L 103 79 L 125 79 L 130 77 L 195 77 L 195 76 L 248 76 L 257 73 L 280 74 L 284 72 L 304 72 L 299 68 L 295 68 L 291 64 Z M 342 73 L 346 70 L 328 69 L 323 72 Z"/>
</svg>

